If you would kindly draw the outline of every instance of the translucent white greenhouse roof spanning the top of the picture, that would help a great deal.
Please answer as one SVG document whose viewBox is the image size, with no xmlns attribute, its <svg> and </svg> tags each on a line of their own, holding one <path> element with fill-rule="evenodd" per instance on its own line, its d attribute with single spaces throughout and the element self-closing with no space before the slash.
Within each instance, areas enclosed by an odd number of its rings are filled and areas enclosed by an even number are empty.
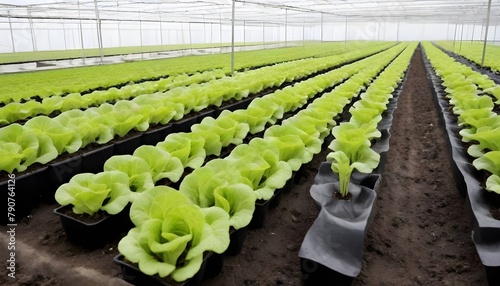
<svg viewBox="0 0 500 286">
<path fill-rule="evenodd" d="M 235 20 L 312 25 L 322 21 L 486 22 L 487 0 L 236 0 Z M 232 19 L 231 0 L 0 0 L 0 17 L 32 19 L 219 23 Z M 500 22 L 500 0 L 491 0 L 490 23 Z"/>
</svg>

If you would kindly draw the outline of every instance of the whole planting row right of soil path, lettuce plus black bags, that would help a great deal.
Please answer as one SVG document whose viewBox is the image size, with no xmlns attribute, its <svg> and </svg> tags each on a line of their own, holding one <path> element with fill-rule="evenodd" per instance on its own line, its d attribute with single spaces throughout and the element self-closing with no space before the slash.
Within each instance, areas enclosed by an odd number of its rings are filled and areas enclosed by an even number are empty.
<svg viewBox="0 0 500 286">
<path fill-rule="evenodd" d="M 500 276 L 500 116 L 490 96 L 475 92 L 460 63 L 423 43 L 441 122 L 448 134 L 457 188 L 473 219 L 472 239 L 490 285 Z M 462 79 L 458 82 L 458 79 Z"/>
</svg>

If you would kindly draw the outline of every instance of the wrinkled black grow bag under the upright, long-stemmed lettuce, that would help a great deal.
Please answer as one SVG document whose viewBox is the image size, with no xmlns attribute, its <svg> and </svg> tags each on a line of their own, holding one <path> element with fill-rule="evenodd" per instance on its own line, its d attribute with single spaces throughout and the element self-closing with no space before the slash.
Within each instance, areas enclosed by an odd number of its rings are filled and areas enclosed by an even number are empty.
<svg viewBox="0 0 500 286">
<path fill-rule="evenodd" d="M 338 177 L 323 163 L 310 193 L 320 213 L 299 251 L 307 285 L 350 285 L 361 271 L 364 239 L 374 215 L 380 175 L 365 176 L 360 185 L 350 183 L 350 200 L 333 197 Z M 330 169 L 331 170 L 331 169 Z M 327 284 L 325 284 L 327 282 Z"/>
</svg>

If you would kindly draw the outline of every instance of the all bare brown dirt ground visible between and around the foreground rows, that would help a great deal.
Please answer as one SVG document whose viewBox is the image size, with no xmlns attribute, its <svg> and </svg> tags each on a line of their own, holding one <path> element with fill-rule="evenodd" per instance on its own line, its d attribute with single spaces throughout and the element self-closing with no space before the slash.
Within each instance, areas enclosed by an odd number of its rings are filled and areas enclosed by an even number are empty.
<svg viewBox="0 0 500 286">
<path fill-rule="evenodd" d="M 419 50 L 409 73 L 394 114 L 363 267 L 353 285 L 487 285 Z M 300 184 L 270 210 L 265 226 L 250 230 L 242 252 L 226 257 L 222 273 L 206 285 L 303 284 L 298 252 L 318 213 L 309 188 L 327 153 L 315 157 Z M 41 205 L 19 223 L 15 279 L 7 277 L 1 227 L 0 285 L 126 285 L 112 261 L 118 241 L 95 251 L 71 244 L 55 207 Z"/>
</svg>

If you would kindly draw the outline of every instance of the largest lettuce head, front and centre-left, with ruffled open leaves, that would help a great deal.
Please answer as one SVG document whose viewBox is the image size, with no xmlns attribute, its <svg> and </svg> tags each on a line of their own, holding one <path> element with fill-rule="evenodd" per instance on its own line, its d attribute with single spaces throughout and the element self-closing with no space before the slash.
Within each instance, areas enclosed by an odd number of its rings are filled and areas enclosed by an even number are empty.
<svg viewBox="0 0 500 286">
<path fill-rule="evenodd" d="M 185 281 L 200 270 L 206 251 L 227 249 L 228 217 L 218 207 L 200 208 L 172 188 L 154 187 L 132 204 L 136 227 L 120 240 L 118 250 L 147 275 Z"/>
</svg>

